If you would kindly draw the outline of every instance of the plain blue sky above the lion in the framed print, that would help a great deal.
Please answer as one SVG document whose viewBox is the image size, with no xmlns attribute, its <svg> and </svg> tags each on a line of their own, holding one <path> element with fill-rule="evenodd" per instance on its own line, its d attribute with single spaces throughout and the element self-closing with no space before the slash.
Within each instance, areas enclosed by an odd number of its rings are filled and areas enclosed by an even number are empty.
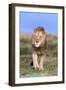
<svg viewBox="0 0 66 90">
<path fill-rule="evenodd" d="M 58 34 L 58 14 L 57 13 L 19 13 L 20 32 L 31 33 L 36 27 L 44 27 L 48 34 Z"/>
</svg>

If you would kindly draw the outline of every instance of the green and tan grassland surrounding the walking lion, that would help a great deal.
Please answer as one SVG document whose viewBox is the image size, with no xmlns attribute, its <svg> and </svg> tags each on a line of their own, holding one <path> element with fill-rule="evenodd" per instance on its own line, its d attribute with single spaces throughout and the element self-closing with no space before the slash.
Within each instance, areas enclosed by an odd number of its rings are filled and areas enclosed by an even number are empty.
<svg viewBox="0 0 66 90">
<path fill-rule="evenodd" d="M 50 36 L 49 36 L 50 37 Z M 57 38 L 48 37 L 47 55 L 44 64 L 44 71 L 33 69 L 30 65 L 32 62 L 31 57 L 31 38 L 27 36 L 20 39 L 20 77 L 39 77 L 39 76 L 55 76 L 57 75 Z"/>
</svg>

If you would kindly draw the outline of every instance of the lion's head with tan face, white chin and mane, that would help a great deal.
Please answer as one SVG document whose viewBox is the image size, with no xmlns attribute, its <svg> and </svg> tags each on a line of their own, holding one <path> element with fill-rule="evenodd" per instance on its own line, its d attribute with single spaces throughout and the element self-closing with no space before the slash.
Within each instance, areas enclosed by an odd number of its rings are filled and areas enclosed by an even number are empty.
<svg viewBox="0 0 66 90">
<path fill-rule="evenodd" d="M 36 48 L 44 46 L 46 41 L 46 32 L 44 28 L 35 28 L 32 33 L 32 45 Z"/>
</svg>

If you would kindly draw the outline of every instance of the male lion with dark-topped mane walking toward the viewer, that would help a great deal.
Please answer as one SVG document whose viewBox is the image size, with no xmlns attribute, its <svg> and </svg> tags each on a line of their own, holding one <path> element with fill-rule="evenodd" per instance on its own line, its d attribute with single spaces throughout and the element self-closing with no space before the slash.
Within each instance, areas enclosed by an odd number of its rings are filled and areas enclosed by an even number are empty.
<svg viewBox="0 0 66 90">
<path fill-rule="evenodd" d="M 46 56 L 46 32 L 44 28 L 35 28 L 32 33 L 32 60 L 35 69 L 44 70 Z"/>
</svg>

